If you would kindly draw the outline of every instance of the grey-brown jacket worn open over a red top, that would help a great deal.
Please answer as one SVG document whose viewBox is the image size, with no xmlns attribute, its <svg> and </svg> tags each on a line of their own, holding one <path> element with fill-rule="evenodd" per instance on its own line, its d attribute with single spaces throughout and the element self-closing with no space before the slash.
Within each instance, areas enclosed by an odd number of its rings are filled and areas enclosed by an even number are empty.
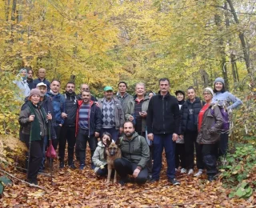
<svg viewBox="0 0 256 208">
<path fill-rule="evenodd" d="M 198 144 L 214 144 L 218 142 L 222 123 L 222 113 L 219 107 L 211 104 L 202 117 L 202 125 L 197 138 Z"/>
</svg>

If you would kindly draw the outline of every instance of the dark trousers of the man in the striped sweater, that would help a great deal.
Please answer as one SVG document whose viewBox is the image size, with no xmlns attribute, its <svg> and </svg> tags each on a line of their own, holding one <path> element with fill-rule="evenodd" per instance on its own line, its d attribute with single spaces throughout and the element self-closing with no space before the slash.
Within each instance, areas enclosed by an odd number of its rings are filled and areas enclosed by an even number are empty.
<svg viewBox="0 0 256 208">
<path fill-rule="evenodd" d="M 80 165 L 86 164 L 86 146 L 87 142 L 89 143 L 90 146 L 90 158 L 93 157 L 94 151 L 96 149 L 96 141 L 94 137 L 89 136 L 89 131 L 88 130 L 82 130 L 79 128 L 78 130 L 78 136 L 77 136 L 77 141 L 76 141 L 76 146 L 79 151 L 79 158 L 80 158 Z M 91 164 L 93 164 L 91 160 Z"/>
</svg>

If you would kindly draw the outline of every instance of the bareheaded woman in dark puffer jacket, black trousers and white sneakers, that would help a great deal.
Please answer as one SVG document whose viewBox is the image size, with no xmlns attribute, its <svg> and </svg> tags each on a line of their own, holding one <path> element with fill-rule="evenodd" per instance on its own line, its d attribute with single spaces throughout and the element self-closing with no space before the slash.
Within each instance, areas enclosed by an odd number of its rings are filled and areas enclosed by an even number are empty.
<svg viewBox="0 0 256 208">
<path fill-rule="evenodd" d="M 188 99 L 182 105 L 181 109 L 181 137 L 184 135 L 185 152 L 186 152 L 186 169 L 188 174 L 194 174 L 194 146 L 196 150 L 198 173 L 194 176 L 198 177 L 202 174 L 203 163 L 202 154 L 198 150 L 198 114 L 205 102 L 196 97 L 196 92 L 193 86 L 187 89 Z"/>
</svg>

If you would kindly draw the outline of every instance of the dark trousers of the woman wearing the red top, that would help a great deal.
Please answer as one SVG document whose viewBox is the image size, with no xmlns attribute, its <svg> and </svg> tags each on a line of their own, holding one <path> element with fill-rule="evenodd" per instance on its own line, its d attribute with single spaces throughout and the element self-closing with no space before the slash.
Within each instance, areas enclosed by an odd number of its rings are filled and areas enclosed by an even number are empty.
<svg viewBox="0 0 256 208">
<path fill-rule="evenodd" d="M 199 146 L 202 149 L 202 158 L 207 170 L 207 175 L 218 174 L 218 170 L 216 168 L 218 144 L 203 144 Z"/>
</svg>

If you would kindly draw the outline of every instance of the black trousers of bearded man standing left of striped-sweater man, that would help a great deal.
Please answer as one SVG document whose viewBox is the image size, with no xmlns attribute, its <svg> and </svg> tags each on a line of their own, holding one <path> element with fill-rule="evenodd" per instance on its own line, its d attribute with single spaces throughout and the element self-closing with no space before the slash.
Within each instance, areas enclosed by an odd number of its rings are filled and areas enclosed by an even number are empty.
<svg viewBox="0 0 256 208">
<path fill-rule="evenodd" d="M 67 142 L 67 154 L 69 164 L 74 159 L 74 145 L 75 145 L 75 126 L 62 126 L 58 143 L 58 157 L 60 161 L 64 161 L 65 148 Z"/>
</svg>

